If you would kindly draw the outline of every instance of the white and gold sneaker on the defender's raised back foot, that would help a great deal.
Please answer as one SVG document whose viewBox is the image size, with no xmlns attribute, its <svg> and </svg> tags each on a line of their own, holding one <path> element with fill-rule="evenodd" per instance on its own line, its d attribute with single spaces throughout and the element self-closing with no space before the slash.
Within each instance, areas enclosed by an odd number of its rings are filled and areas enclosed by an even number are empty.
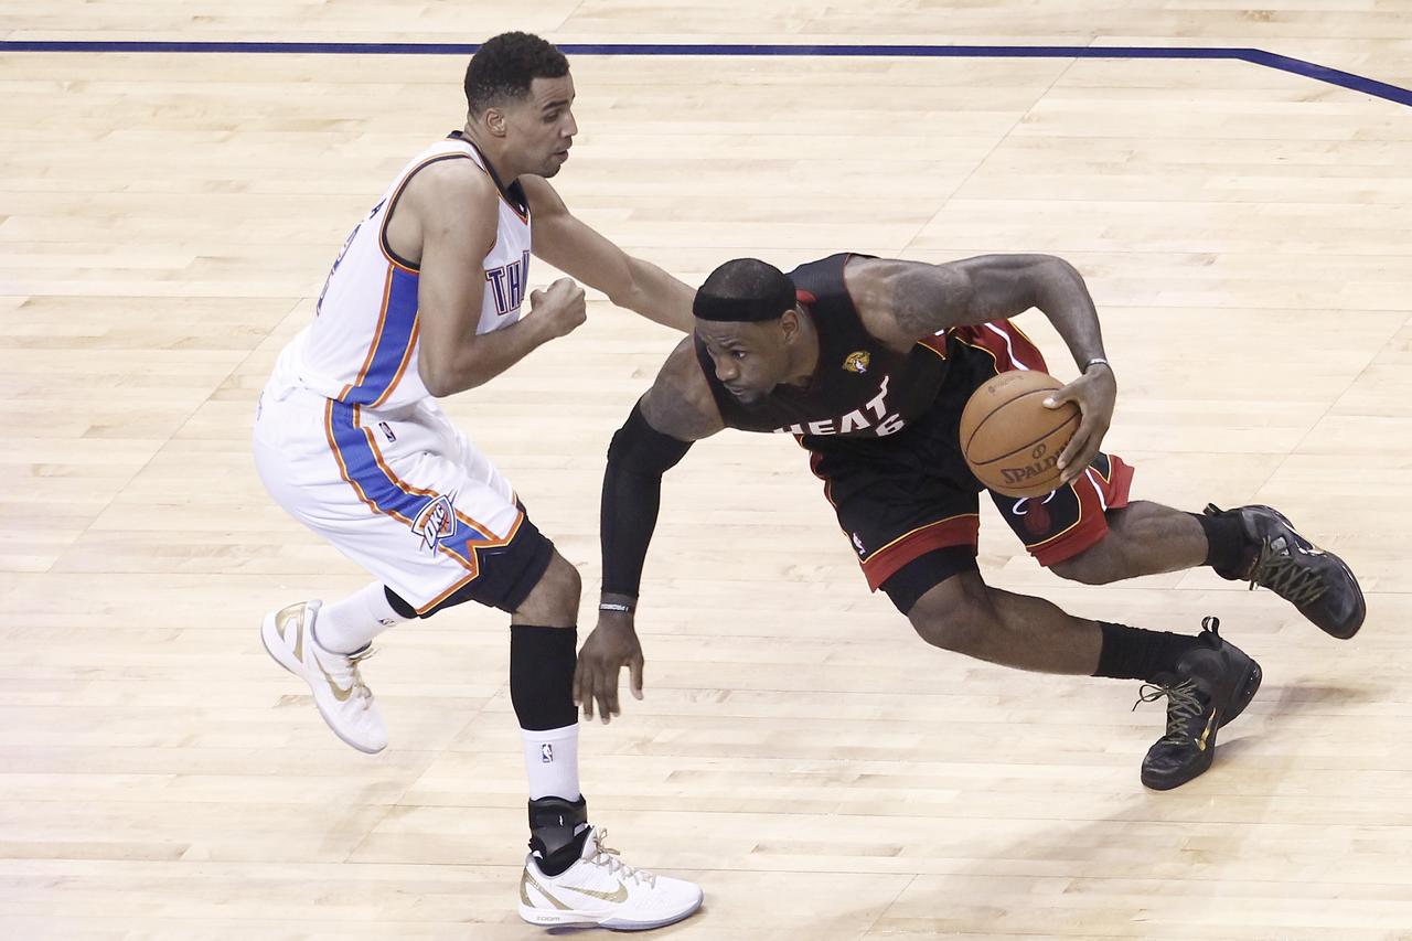
<svg viewBox="0 0 1412 941">
<path fill-rule="evenodd" d="M 387 747 L 387 725 L 359 674 L 359 664 L 373 649 L 340 654 L 321 647 L 313 639 L 321 603 L 299 602 L 265 615 L 260 640 L 275 663 L 309 684 L 313 705 L 333 735 L 359 752 L 376 754 Z"/>
</svg>

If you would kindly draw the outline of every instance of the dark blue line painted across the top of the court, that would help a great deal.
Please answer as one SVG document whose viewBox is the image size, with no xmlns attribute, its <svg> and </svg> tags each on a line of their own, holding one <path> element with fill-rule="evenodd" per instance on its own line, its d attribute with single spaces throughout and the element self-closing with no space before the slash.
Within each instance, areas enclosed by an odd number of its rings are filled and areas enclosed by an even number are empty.
<svg viewBox="0 0 1412 941">
<path fill-rule="evenodd" d="M 326 55 L 470 55 L 476 42 L 109 42 L 0 40 L 0 52 L 305 52 Z M 1227 59 L 1250 62 L 1374 97 L 1412 105 L 1412 89 L 1248 48 L 1163 48 L 1147 45 L 779 45 L 720 42 L 565 42 L 565 55 L 802 55 L 1000 59 Z"/>
</svg>

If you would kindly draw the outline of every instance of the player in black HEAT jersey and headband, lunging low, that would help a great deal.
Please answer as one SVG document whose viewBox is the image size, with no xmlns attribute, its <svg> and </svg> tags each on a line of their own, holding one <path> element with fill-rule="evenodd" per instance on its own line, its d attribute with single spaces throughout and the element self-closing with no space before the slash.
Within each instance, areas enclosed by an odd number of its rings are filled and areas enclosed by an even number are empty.
<svg viewBox="0 0 1412 941">
<path fill-rule="evenodd" d="M 1051 403 L 1083 420 L 1048 497 L 991 493 L 1029 552 L 1062 578 L 1106 584 L 1209 565 L 1275 591 L 1334 637 L 1363 625 L 1353 572 L 1265 506 L 1183 513 L 1130 502 L 1132 469 L 1100 451 L 1117 383 L 1093 300 L 1067 263 L 984 256 L 947 264 L 836 254 L 785 276 L 754 259 L 710 274 L 682 341 L 614 435 L 603 483 L 603 596 L 579 653 L 585 715 L 617 715 L 621 667 L 641 697 L 634 629 L 638 582 L 657 521 L 661 475 L 690 442 L 723 428 L 789 432 L 858 554 L 928 643 L 1021 670 L 1144 680 L 1168 698 L 1166 733 L 1142 783 L 1176 787 L 1210 767 L 1217 729 L 1255 695 L 1260 665 L 1217 634 L 1094 622 L 986 585 L 976 567 L 983 485 L 957 425 L 971 391 L 998 372 L 1045 369 L 1008 318 L 1039 308 L 1080 377 Z M 1046 403 L 1049 404 L 1049 403 Z"/>
</svg>

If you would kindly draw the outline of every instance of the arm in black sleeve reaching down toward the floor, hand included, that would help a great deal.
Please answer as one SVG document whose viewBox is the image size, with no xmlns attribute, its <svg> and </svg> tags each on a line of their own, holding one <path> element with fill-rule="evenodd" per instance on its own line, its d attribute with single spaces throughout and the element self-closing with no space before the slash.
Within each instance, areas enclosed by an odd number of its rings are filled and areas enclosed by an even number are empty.
<svg viewBox="0 0 1412 941">
<path fill-rule="evenodd" d="M 603 475 L 603 595 L 599 623 L 583 641 L 573 680 L 573 698 L 583 715 L 607 723 L 618 715 L 618 674 L 628 667 L 633 695 L 642 698 L 642 646 L 634 612 L 647 547 L 657 527 L 662 475 L 681 461 L 693 441 L 724 424 L 686 338 L 662 366 L 657 381 L 633 407 L 613 435 Z"/>
</svg>

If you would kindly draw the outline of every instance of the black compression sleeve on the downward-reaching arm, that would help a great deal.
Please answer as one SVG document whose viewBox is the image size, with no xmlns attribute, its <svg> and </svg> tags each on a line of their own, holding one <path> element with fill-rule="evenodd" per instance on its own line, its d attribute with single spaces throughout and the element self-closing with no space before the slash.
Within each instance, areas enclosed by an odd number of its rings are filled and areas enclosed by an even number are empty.
<svg viewBox="0 0 1412 941">
<path fill-rule="evenodd" d="M 647 544 L 657 528 L 662 475 L 676 466 L 690 446 L 690 441 L 678 441 L 647 424 L 640 404 L 633 406 L 633 414 L 613 435 L 599 523 L 604 592 L 637 598 Z"/>
</svg>

